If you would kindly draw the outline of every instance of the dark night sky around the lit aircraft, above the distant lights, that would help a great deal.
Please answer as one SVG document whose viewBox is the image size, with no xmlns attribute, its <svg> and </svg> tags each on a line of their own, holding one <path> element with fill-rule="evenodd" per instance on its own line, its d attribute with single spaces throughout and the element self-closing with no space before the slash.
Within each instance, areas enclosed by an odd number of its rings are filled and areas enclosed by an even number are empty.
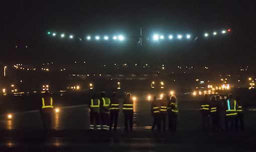
<svg viewBox="0 0 256 152">
<path fill-rule="evenodd" d="M 2 0 L 0 61 L 254 65 L 254 3 L 253 0 Z M 143 46 L 137 44 L 140 27 Z M 232 30 L 228 35 L 196 41 L 153 43 L 146 39 L 156 31 L 203 34 L 227 28 Z M 48 36 L 49 30 L 82 38 L 87 34 L 122 32 L 130 39 L 122 43 L 67 40 Z"/>
</svg>

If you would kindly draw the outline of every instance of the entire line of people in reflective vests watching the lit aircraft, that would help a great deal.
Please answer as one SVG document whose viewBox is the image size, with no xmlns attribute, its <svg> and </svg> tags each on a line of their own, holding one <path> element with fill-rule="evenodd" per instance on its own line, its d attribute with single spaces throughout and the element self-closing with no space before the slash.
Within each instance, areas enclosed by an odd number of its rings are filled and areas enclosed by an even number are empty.
<svg viewBox="0 0 256 152">
<path fill-rule="evenodd" d="M 90 130 L 116 130 L 119 113 L 119 99 L 116 92 L 113 92 L 111 98 L 106 97 L 105 92 L 101 92 L 98 98 L 96 94 L 92 95 L 89 101 L 90 108 Z M 42 96 L 42 107 L 40 108 L 45 131 L 51 126 L 51 113 L 53 111 L 53 98 L 49 92 Z M 232 94 L 221 98 L 219 95 L 213 95 L 209 98 L 204 95 L 201 101 L 201 114 L 204 130 L 243 130 L 243 109 L 239 96 L 236 99 Z M 131 93 L 126 93 L 123 99 L 122 111 L 124 115 L 124 129 L 133 130 L 134 100 Z M 177 128 L 178 100 L 175 95 L 164 95 L 158 98 L 153 97 L 151 104 L 151 113 L 154 117 L 152 130 L 157 127 L 158 131 L 166 130 L 166 119 L 168 117 L 169 130 L 175 131 Z M 94 122 L 96 125 L 94 125 Z"/>
</svg>

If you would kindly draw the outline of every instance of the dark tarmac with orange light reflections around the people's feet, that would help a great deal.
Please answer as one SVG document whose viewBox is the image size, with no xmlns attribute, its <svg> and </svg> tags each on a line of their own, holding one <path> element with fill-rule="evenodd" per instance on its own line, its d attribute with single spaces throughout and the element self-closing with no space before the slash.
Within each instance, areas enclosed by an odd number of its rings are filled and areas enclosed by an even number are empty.
<svg viewBox="0 0 256 152">
<path fill-rule="evenodd" d="M 0 151 L 255 151 L 256 110 L 244 109 L 245 130 L 203 131 L 199 102 L 179 100 L 176 132 L 152 131 L 150 101 L 135 101 L 134 130 L 125 132 L 119 111 L 117 130 L 88 131 L 85 104 L 60 107 L 52 130 L 43 133 L 39 110 L 0 116 Z"/>
</svg>

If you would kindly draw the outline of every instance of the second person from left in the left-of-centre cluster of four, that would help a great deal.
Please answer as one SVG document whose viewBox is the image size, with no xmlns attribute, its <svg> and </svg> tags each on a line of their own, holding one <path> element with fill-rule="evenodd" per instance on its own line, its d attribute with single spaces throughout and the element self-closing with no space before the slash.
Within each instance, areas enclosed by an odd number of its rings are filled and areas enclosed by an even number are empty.
<svg viewBox="0 0 256 152">
<path fill-rule="evenodd" d="M 109 107 L 110 107 L 110 99 L 105 96 L 105 92 L 101 92 L 100 94 L 100 118 L 103 130 L 109 130 Z"/>
</svg>

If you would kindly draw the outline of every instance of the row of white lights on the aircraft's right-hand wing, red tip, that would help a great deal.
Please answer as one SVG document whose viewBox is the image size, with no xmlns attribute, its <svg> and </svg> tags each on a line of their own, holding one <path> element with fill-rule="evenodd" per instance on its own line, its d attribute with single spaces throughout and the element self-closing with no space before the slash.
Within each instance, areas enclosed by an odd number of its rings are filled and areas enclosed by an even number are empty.
<svg viewBox="0 0 256 152">
<path fill-rule="evenodd" d="M 222 33 L 222 34 L 225 34 L 227 31 L 230 32 L 231 29 L 222 30 L 221 33 Z M 217 34 L 218 34 L 217 31 L 212 32 L 212 34 L 210 34 L 210 33 L 204 33 L 204 37 L 208 37 L 208 36 L 210 36 L 210 35 L 217 35 Z M 185 36 L 186 36 L 187 39 L 190 39 L 190 38 L 192 37 L 191 34 L 186 34 Z M 182 39 L 183 37 L 184 37 L 184 35 L 182 35 L 182 34 L 178 34 L 178 35 L 177 35 L 177 38 L 178 38 L 178 39 Z M 169 39 L 173 39 L 173 38 L 175 38 L 175 36 L 174 36 L 174 35 L 169 35 L 168 38 L 169 38 Z M 164 35 L 159 35 L 159 34 L 154 34 L 154 35 L 153 35 L 153 39 L 154 39 L 154 40 L 165 39 L 165 36 L 164 36 Z"/>
</svg>

